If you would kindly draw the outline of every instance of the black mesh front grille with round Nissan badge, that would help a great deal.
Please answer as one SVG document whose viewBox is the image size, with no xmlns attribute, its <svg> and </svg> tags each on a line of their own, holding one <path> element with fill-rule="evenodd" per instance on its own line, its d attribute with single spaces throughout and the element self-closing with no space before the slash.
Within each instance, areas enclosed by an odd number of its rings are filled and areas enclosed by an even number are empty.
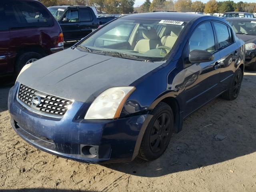
<svg viewBox="0 0 256 192">
<path fill-rule="evenodd" d="M 45 94 L 22 84 L 20 84 L 18 98 L 20 102 L 33 110 L 56 116 L 63 116 L 72 104 L 70 100 Z M 32 100 L 38 102 L 32 103 Z"/>
</svg>

